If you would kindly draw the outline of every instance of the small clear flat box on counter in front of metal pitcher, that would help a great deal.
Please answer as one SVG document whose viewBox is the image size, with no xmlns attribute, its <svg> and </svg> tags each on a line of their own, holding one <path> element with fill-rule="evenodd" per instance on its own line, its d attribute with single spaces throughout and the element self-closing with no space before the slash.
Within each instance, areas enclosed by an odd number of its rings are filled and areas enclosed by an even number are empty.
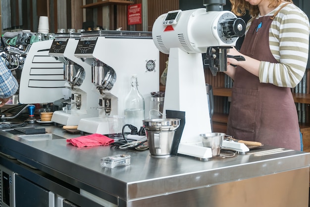
<svg viewBox="0 0 310 207">
<path fill-rule="evenodd" d="M 122 165 L 130 165 L 130 155 L 117 154 L 113 156 L 103 157 L 100 160 L 101 167 L 114 168 Z"/>
</svg>

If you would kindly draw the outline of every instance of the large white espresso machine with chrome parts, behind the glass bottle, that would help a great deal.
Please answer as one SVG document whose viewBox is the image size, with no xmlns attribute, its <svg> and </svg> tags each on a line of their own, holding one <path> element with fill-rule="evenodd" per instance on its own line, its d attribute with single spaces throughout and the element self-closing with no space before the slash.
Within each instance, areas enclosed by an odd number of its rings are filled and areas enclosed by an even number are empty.
<svg viewBox="0 0 310 207">
<path fill-rule="evenodd" d="M 131 88 L 131 76 L 138 78 L 138 88 L 149 116 L 151 92 L 159 91 L 159 51 L 151 32 L 96 31 L 83 35 L 75 56 L 92 66 L 92 84 L 99 94 L 99 116 L 80 120 L 78 130 L 109 134 L 107 116 L 124 116 L 125 98 Z M 135 126 L 138 128 L 143 126 Z M 121 133 L 121 132 L 114 132 Z"/>
</svg>

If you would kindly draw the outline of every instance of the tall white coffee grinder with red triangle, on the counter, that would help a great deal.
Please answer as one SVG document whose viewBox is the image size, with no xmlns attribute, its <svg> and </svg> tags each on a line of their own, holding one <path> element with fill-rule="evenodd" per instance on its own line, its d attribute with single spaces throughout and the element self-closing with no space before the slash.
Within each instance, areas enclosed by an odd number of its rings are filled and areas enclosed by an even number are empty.
<svg viewBox="0 0 310 207">
<path fill-rule="evenodd" d="M 201 159 L 212 157 L 200 138 L 212 132 L 202 53 L 210 58 L 213 75 L 225 71 L 227 49 L 235 46 L 246 27 L 242 19 L 223 10 L 224 4 L 225 0 L 205 0 L 206 8 L 169 11 L 153 25 L 156 47 L 169 54 L 164 115 L 166 110 L 185 112 L 178 153 Z"/>
</svg>

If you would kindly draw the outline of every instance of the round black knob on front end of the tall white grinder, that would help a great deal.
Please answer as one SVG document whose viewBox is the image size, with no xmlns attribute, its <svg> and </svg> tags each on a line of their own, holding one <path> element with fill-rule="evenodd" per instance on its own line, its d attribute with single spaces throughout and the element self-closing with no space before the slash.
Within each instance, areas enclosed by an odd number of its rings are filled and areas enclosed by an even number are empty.
<svg viewBox="0 0 310 207">
<path fill-rule="evenodd" d="M 246 23 L 242 18 L 227 19 L 221 25 L 223 35 L 227 38 L 242 37 L 246 32 Z"/>
</svg>

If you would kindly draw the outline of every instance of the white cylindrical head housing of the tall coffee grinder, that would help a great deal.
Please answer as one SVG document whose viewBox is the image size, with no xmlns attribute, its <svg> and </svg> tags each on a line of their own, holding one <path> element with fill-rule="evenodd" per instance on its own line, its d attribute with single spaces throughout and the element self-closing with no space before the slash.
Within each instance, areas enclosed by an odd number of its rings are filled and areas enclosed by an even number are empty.
<svg viewBox="0 0 310 207">
<path fill-rule="evenodd" d="M 222 33 L 222 22 L 236 18 L 230 11 L 206 11 L 206 8 L 176 10 L 179 18 L 175 25 L 164 25 L 167 16 L 160 15 L 153 25 L 153 40 L 160 52 L 169 54 L 171 48 L 186 53 L 206 53 L 208 47 L 235 46 L 237 37 L 227 38 Z"/>
</svg>

